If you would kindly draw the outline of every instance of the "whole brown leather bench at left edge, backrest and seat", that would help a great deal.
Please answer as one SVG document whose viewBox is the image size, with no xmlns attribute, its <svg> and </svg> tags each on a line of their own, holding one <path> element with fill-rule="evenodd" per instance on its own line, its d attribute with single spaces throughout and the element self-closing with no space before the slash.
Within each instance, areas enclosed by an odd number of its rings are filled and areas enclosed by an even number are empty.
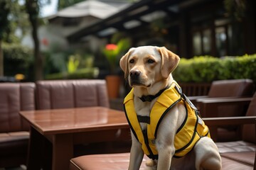
<svg viewBox="0 0 256 170">
<path fill-rule="evenodd" d="M 0 84 L 0 168 L 26 164 L 29 126 L 19 111 L 35 109 L 35 84 Z"/>
</svg>

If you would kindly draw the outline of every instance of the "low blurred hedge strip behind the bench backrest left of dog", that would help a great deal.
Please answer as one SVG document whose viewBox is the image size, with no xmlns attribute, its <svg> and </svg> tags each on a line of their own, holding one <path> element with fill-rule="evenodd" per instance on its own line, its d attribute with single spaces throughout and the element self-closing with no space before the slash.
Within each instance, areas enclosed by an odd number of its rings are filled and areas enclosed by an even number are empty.
<svg viewBox="0 0 256 170">
<path fill-rule="evenodd" d="M 55 73 L 47 74 L 45 79 L 95 79 L 99 74 L 97 67 L 78 69 L 73 73 Z"/>
</svg>

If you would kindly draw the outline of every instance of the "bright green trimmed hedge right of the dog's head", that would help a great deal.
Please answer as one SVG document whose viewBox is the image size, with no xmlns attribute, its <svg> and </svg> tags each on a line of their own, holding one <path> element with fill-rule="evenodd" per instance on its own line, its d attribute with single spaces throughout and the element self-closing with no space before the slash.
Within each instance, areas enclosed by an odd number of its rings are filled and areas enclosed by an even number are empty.
<svg viewBox="0 0 256 170">
<path fill-rule="evenodd" d="M 181 58 L 173 72 L 179 82 L 212 82 L 221 79 L 252 79 L 256 82 L 256 54 L 241 57 Z"/>
</svg>

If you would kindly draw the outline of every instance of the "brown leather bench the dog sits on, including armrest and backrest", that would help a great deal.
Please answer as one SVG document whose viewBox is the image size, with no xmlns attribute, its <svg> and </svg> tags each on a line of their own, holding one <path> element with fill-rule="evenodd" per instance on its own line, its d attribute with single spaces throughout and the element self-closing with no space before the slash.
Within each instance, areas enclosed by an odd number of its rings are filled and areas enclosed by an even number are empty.
<svg viewBox="0 0 256 170">
<path fill-rule="evenodd" d="M 234 101 L 233 101 L 234 102 Z M 238 101 L 237 101 L 238 104 Z M 206 103 L 207 105 L 207 103 Z M 244 117 L 205 118 L 205 123 L 210 130 L 223 124 L 250 124 L 243 125 L 242 140 L 235 142 L 217 142 L 222 157 L 222 169 L 245 170 L 255 169 L 255 120 L 256 120 L 256 93 L 250 101 L 247 114 Z M 250 117 L 253 116 L 253 117 Z M 213 127 L 213 128 L 211 128 Z M 214 135 L 214 133 L 213 133 Z M 215 138 L 215 137 L 213 137 Z M 144 162 L 146 158 L 144 157 Z M 144 162 L 141 169 L 144 169 Z M 75 157 L 70 160 L 70 170 L 108 170 L 128 169 L 129 153 L 123 154 L 98 154 Z"/>
</svg>

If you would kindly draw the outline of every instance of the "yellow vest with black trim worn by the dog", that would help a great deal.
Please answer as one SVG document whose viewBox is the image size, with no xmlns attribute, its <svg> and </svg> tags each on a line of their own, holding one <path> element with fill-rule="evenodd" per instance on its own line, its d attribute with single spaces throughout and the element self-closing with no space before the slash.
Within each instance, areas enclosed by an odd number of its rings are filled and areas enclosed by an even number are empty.
<svg viewBox="0 0 256 170">
<path fill-rule="evenodd" d="M 150 123 L 147 124 L 146 130 L 142 130 L 139 125 L 137 113 L 134 109 L 133 91 L 132 89 L 124 98 L 124 111 L 134 136 L 142 144 L 144 154 L 149 158 L 158 159 L 158 152 L 155 145 L 157 130 L 161 120 L 176 103 L 180 102 L 185 106 L 186 119 L 176 132 L 174 139 L 176 152 L 174 157 L 185 156 L 193 149 L 193 146 L 201 137 L 210 137 L 209 129 L 198 115 L 196 107 L 182 94 L 181 88 L 176 82 L 171 84 L 169 89 L 166 89 L 159 98 L 157 98 L 149 114 Z"/>
</svg>

